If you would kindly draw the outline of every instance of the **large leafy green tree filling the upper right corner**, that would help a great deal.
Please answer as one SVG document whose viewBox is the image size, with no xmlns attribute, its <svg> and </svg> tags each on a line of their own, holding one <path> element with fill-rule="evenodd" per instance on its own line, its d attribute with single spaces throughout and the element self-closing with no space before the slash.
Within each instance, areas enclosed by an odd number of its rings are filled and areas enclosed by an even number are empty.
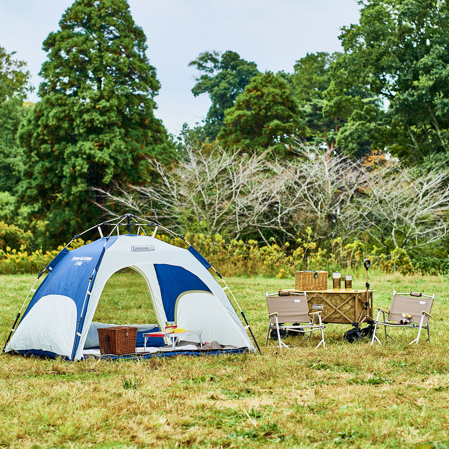
<svg viewBox="0 0 449 449">
<path fill-rule="evenodd" d="M 344 54 L 331 65 L 329 114 L 348 115 L 337 143 L 422 159 L 449 149 L 449 5 L 440 0 L 360 2 L 357 24 L 342 28 Z M 348 95 L 348 92 L 354 95 Z M 365 92 L 363 95 L 357 92 Z M 376 110 L 370 92 L 385 111 Z"/>
</svg>

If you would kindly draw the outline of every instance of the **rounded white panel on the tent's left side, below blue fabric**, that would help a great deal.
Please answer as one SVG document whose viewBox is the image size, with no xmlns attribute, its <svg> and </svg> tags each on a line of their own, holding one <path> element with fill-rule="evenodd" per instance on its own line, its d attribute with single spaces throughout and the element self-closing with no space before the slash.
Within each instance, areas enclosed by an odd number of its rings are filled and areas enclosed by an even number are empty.
<svg viewBox="0 0 449 449">
<path fill-rule="evenodd" d="M 72 357 L 76 332 L 76 305 L 64 295 L 47 295 L 23 318 L 7 350 L 42 349 Z"/>
</svg>

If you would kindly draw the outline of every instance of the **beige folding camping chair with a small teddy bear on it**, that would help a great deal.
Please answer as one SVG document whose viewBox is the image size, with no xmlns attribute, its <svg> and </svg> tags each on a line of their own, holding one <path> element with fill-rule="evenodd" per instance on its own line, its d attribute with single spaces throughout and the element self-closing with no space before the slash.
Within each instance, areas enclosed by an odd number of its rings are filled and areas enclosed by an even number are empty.
<svg viewBox="0 0 449 449">
<path fill-rule="evenodd" d="M 405 296 L 409 295 L 409 296 Z M 424 298 L 428 298 L 424 300 Z M 393 299 L 392 304 L 390 306 L 390 311 L 387 312 L 386 310 L 383 310 L 383 308 L 378 307 L 377 312 L 377 318 L 374 321 L 374 332 L 373 332 L 373 339 L 371 340 L 371 346 L 373 346 L 374 339 L 377 340 L 379 344 L 380 340 L 377 338 L 376 330 L 377 326 L 381 325 L 384 326 L 385 329 L 385 340 L 388 341 L 388 339 L 392 339 L 393 341 L 396 341 L 394 338 L 392 338 L 391 335 L 387 332 L 387 326 L 391 327 L 411 327 L 411 328 L 418 328 L 418 337 L 412 340 L 410 344 L 416 343 L 418 344 L 419 336 L 421 335 L 421 330 L 427 329 L 427 340 L 430 341 L 430 324 L 429 324 L 429 318 L 431 318 L 431 309 L 433 300 L 435 299 L 435 293 L 432 296 L 423 295 L 422 293 L 417 293 L 415 291 L 412 291 L 410 293 L 396 293 L 396 290 L 393 291 Z M 383 313 L 383 321 L 379 321 L 380 313 Z M 385 319 L 385 314 L 387 313 L 387 319 Z M 406 324 L 398 324 L 398 321 L 400 321 L 402 318 L 402 314 L 407 313 L 411 315 L 411 318 L 409 318 L 409 323 Z M 388 321 L 395 321 L 395 323 L 389 323 Z"/>
</svg>

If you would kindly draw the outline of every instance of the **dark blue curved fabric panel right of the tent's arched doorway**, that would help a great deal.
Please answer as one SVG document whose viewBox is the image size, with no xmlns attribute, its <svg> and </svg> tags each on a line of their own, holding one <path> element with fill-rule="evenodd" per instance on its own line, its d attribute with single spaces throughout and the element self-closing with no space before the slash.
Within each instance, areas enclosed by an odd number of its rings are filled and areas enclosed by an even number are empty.
<svg viewBox="0 0 449 449">
<path fill-rule="evenodd" d="M 198 276 L 178 265 L 154 264 L 154 269 L 158 277 L 167 321 L 175 320 L 176 298 L 181 293 L 189 290 L 211 293 L 209 287 Z"/>
</svg>

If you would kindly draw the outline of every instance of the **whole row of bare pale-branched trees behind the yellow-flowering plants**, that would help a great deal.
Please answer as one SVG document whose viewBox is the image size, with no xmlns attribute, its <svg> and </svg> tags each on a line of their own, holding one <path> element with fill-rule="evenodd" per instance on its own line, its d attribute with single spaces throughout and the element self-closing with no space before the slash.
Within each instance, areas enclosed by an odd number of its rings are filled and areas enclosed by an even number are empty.
<svg viewBox="0 0 449 449">
<path fill-rule="evenodd" d="M 174 167 L 151 161 L 157 182 L 97 189 L 107 215 L 134 211 L 179 232 L 259 233 L 281 239 L 304 235 L 321 243 L 368 233 L 388 250 L 434 242 L 446 235 L 448 172 L 417 174 L 387 163 L 368 171 L 342 155 L 298 143 L 297 157 L 273 160 L 216 147 L 187 150 Z M 267 232 L 269 231 L 269 232 Z"/>
</svg>

